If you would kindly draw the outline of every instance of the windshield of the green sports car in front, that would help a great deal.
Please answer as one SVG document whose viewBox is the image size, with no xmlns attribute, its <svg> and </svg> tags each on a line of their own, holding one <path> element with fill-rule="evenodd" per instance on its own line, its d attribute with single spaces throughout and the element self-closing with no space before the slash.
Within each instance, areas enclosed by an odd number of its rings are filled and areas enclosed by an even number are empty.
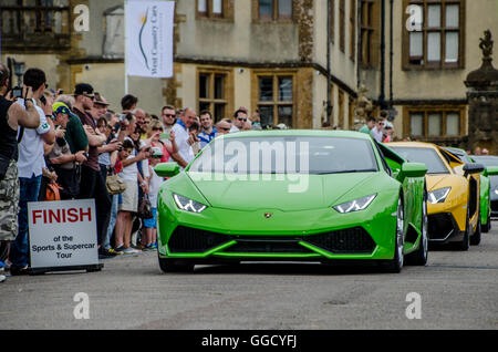
<svg viewBox="0 0 498 352">
<path fill-rule="evenodd" d="M 347 137 L 217 138 L 188 172 L 224 174 L 338 174 L 377 172 L 371 141 Z"/>
</svg>

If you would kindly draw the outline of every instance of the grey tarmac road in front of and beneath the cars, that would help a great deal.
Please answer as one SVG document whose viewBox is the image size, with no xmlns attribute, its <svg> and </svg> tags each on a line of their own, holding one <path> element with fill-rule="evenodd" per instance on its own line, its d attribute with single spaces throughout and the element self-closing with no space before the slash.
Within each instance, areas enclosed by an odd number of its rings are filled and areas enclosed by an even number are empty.
<svg viewBox="0 0 498 352">
<path fill-rule="evenodd" d="M 480 246 L 433 250 L 427 267 L 405 267 L 400 275 L 314 263 L 201 266 L 193 275 L 163 275 L 156 252 L 143 252 L 104 260 L 101 272 L 9 277 L 0 283 L 1 328 L 495 330 L 498 221 L 492 226 Z M 75 319 L 77 292 L 87 294 L 89 319 Z"/>
</svg>

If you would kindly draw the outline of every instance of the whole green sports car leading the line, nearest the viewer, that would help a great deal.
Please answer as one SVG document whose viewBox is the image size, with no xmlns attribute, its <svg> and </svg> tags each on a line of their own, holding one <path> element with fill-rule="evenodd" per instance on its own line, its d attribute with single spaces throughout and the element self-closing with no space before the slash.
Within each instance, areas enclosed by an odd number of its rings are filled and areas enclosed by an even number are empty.
<svg viewBox="0 0 498 352">
<path fill-rule="evenodd" d="M 240 132 L 155 168 L 165 272 L 241 261 L 427 261 L 424 164 L 357 132 Z M 406 257 L 406 258 L 405 258 Z"/>
</svg>

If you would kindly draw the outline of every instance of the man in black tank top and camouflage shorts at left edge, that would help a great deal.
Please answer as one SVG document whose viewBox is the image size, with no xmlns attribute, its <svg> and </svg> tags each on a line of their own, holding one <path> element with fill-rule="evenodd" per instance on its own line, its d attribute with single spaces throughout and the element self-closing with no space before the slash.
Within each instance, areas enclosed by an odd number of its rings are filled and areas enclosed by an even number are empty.
<svg viewBox="0 0 498 352">
<path fill-rule="evenodd" d="M 31 87 L 21 89 L 24 106 L 4 99 L 9 69 L 0 63 L 0 240 L 12 241 L 18 235 L 20 186 L 18 177 L 18 127 L 37 128 L 40 115 Z M 14 269 L 15 271 L 17 269 Z M 6 277 L 0 276 L 0 282 Z"/>
</svg>

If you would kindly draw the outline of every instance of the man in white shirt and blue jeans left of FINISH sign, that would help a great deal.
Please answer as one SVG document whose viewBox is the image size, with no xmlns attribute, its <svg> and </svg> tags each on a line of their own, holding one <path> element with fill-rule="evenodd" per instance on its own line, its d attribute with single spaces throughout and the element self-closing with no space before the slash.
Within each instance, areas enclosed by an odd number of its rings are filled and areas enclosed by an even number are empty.
<svg viewBox="0 0 498 352">
<path fill-rule="evenodd" d="M 45 73 L 39 69 L 29 69 L 24 73 L 24 84 L 31 86 L 33 99 L 37 102 L 37 111 L 40 115 L 40 125 L 35 130 L 20 128 L 18 133 L 19 143 L 19 231 L 15 240 L 11 244 L 10 261 L 12 275 L 27 273 L 29 266 L 29 241 L 28 241 L 28 203 L 37 201 L 40 194 L 43 168 L 45 167 L 43 144 L 55 143 L 55 131 L 51 120 L 52 105 L 41 103 L 40 99 L 46 89 Z M 17 101 L 24 106 L 24 100 Z M 41 107 L 41 106 L 43 107 Z"/>
</svg>

